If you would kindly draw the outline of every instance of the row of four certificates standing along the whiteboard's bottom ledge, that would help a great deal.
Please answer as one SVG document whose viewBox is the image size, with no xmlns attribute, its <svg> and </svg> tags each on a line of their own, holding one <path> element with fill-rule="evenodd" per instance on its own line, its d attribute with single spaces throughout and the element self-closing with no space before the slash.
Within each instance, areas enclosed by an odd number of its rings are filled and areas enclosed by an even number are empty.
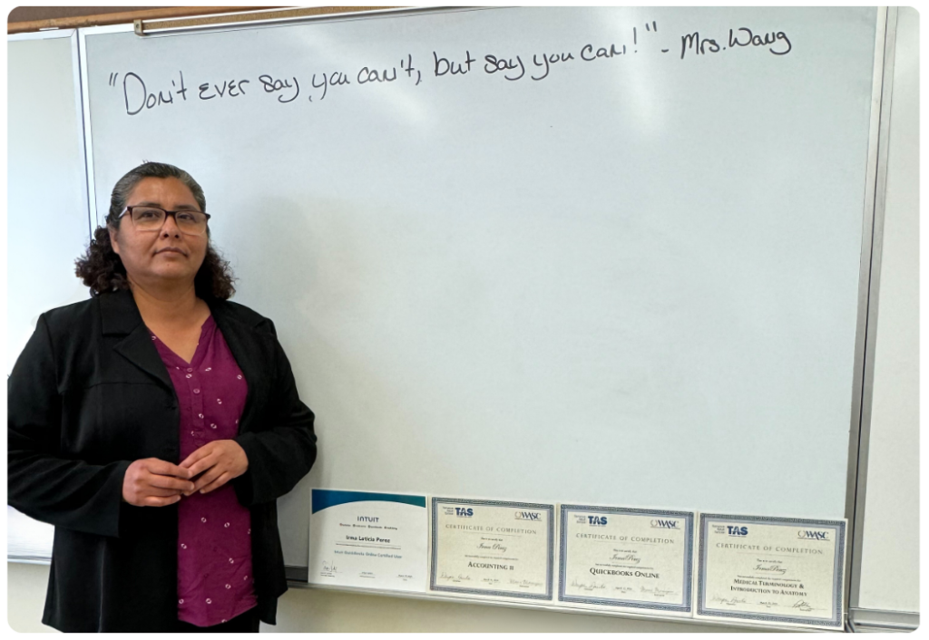
<svg viewBox="0 0 929 640">
<path fill-rule="evenodd" d="M 844 521 L 314 490 L 309 581 L 842 629 Z"/>
</svg>

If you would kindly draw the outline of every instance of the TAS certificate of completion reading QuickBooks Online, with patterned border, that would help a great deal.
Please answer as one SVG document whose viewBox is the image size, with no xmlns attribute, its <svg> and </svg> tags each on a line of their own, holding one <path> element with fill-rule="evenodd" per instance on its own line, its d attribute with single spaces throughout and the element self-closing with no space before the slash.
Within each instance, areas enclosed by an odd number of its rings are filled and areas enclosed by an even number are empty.
<svg viewBox="0 0 929 640">
<path fill-rule="evenodd" d="M 559 602 L 693 611 L 692 513 L 561 505 Z"/>
</svg>

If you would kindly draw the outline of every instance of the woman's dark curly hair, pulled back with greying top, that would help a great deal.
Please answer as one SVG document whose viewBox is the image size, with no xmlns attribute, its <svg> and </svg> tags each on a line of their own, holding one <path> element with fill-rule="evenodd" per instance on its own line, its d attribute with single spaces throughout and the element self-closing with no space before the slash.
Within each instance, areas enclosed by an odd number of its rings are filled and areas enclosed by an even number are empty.
<svg viewBox="0 0 929 640">
<path fill-rule="evenodd" d="M 129 199 L 139 182 L 147 177 L 169 178 L 174 177 L 184 183 L 201 210 L 206 209 L 206 198 L 203 189 L 189 173 L 178 169 L 171 164 L 144 163 L 123 176 L 113 188 L 110 214 L 107 216 L 105 227 L 99 227 L 94 232 L 94 238 L 87 247 L 85 255 L 77 260 L 75 272 L 77 277 L 90 288 L 90 294 L 98 296 L 114 291 L 127 291 L 129 278 L 126 275 L 123 260 L 113 251 L 110 240 L 110 229 L 119 230 L 120 214 L 125 209 L 125 202 Z M 229 262 L 210 243 L 206 249 L 203 266 L 194 279 L 197 296 L 203 300 L 229 300 L 235 295 L 235 277 Z"/>
</svg>

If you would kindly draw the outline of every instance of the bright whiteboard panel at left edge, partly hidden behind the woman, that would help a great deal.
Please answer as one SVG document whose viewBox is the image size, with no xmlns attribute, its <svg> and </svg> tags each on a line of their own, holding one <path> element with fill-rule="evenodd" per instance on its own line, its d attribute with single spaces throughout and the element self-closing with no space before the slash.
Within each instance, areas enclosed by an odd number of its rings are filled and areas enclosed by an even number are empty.
<svg viewBox="0 0 929 640">
<path fill-rule="evenodd" d="M 39 316 L 87 298 L 77 34 L 7 38 L 7 377 Z M 7 557 L 51 557 L 53 529 L 7 507 Z"/>
</svg>

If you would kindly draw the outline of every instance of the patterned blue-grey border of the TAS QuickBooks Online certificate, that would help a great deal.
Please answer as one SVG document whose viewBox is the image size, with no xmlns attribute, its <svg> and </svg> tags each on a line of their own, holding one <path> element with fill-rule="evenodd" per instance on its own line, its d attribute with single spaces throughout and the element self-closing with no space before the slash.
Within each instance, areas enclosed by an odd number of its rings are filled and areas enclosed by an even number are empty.
<svg viewBox="0 0 929 640">
<path fill-rule="evenodd" d="M 619 516 L 657 516 L 673 517 L 687 521 L 687 540 L 684 549 L 684 604 L 661 605 L 660 603 L 629 602 L 626 600 L 597 599 L 582 596 L 566 595 L 568 565 L 568 514 L 569 512 L 616 514 Z M 696 515 L 692 511 L 660 511 L 649 509 L 623 509 L 621 507 L 597 507 L 586 504 L 561 505 L 561 558 L 558 579 L 558 602 L 569 602 L 577 605 L 596 605 L 599 607 L 623 607 L 648 609 L 651 611 L 667 611 L 674 613 L 693 613 L 693 572 L 694 572 L 694 523 Z"/>
</svg>

